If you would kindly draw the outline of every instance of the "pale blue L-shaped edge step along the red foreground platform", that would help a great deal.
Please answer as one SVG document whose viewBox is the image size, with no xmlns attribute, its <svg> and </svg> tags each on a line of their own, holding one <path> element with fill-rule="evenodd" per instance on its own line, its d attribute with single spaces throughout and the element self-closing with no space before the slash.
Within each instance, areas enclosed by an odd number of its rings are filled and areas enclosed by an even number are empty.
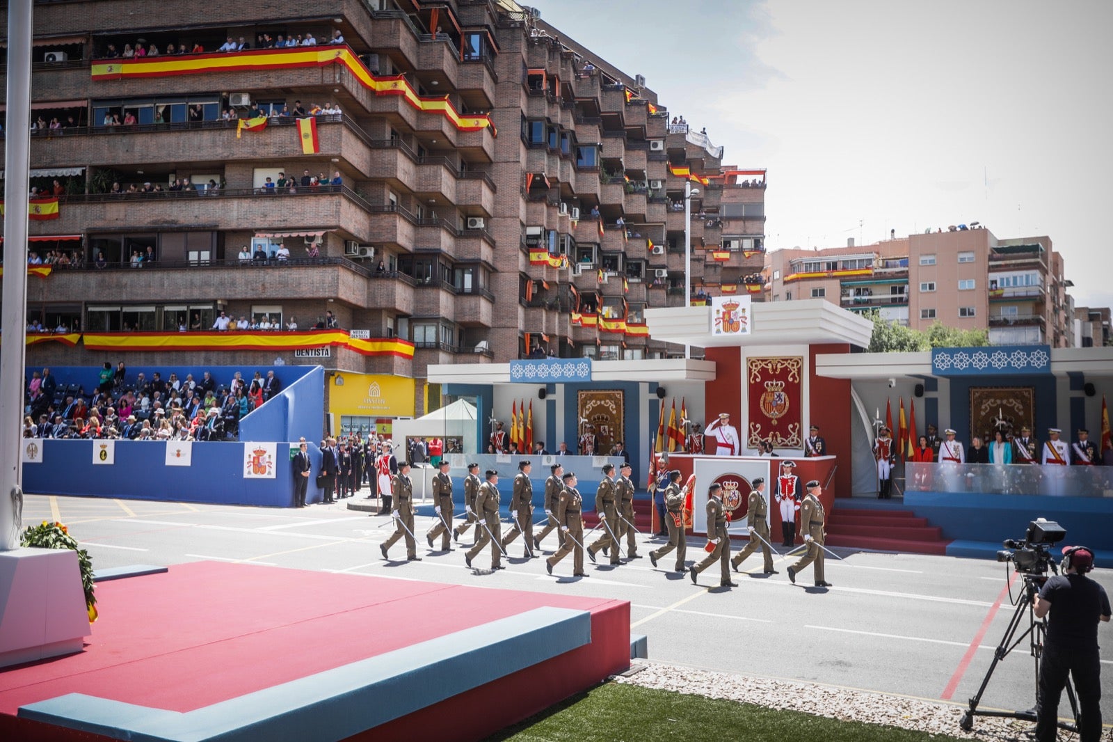
<svg viewBox="0 0 1113 742">
<path fill-rule="evenodd" d="M 69 693 L 23 719 L 137 742 L 343 740 L 591 643 L 591 614 L 541 607 L 186 713 Z"/>
</svg>

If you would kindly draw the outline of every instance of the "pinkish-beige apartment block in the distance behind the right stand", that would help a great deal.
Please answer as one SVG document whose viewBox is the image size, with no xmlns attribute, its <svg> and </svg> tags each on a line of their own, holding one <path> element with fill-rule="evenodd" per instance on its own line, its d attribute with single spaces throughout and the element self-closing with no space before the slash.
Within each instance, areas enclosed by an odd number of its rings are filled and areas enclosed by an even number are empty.
<svg viewBox="0 0 1113 742">
<path fill-rule="evenodd" d="M 851 241 L 853 242 L 853 241 Z M 778 250 L 766 299 L 826 299 L 916 330 L 988 329 L 993 344 L 1075 344 L 1063 257 L 1048 237 L 998 240 L 986 228 L 913 234 L 871 245 Z"/>
</svg>

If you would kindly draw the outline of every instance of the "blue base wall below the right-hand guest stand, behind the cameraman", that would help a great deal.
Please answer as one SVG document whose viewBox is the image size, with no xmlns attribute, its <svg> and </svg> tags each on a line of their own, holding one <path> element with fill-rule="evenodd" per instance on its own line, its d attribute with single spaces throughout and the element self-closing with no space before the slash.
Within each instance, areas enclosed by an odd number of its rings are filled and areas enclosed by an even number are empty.
<svg viewBox="0 0 1113 742">
<path fill-rule="evenodd" d="M 944 538 L 1002 541 L 1023 538 L 1036 518 L 1066 528 L 1065 544 L 1113 550 L 1113 500 L 1107 497 L 905 492 L 905 508 L 943 528 Z"/>
</svg>

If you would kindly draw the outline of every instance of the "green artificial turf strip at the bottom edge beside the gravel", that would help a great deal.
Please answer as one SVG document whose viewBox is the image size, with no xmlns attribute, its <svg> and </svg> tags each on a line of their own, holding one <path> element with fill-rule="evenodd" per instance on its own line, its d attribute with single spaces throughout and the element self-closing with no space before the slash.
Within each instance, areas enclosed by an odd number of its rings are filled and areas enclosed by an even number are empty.
<svg viewBox="0 0 1113 742">
<path fill-rule="evenodd" d="M 736 701 L 604 683 L 509 726 L 489 742 L 957 742 L 895 726 L 774 711 Z"/>
</svg>

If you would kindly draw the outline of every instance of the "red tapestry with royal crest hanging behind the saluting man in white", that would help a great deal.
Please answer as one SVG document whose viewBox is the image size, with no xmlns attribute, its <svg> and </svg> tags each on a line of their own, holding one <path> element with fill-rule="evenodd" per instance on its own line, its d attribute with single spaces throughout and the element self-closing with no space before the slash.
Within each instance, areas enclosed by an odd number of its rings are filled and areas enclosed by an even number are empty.
<svg viewBox="0 0 1113 742">
<path fill-rule="evenodd" d="M 747 359 L 749 420 L 745 446 L 758 448 L 766 440 L 774 448 L 804 446 L 802 374 L 804 359 L 799 355 Z"/>
</svg>

